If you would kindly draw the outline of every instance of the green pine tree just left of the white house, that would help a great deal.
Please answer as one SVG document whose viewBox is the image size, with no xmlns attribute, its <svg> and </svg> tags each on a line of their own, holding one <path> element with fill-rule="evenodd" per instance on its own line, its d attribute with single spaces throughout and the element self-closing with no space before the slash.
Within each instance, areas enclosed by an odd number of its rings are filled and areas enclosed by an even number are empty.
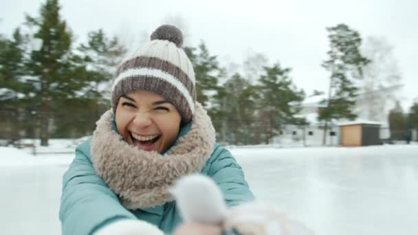
<svg viewBox="0 0 418 235">
<path fill-rule="evenodd" d="M 281 133 L 285 124 L 303 124 L 296 117 L 300 112 L 300 102 L 305 98 L 303 90 L 298 90 L 289 77 L 290 68 L 282 68 L 279 63 L 264 67 L 265 74 L 259 78 L 261 93 L 260 117 L 265 124 L 265 143 Z"/>
</svg>

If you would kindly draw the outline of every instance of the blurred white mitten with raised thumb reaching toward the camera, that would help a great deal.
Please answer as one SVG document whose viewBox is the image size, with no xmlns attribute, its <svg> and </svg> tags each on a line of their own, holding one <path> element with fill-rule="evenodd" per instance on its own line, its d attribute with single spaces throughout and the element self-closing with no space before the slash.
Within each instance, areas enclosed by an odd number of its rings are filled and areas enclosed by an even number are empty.
<svg viewBox="0 0 418 235">
<path fill-rule="evenodd" d="M 241 235 L 313 234 L 272 205 L 252 202 L 228 210 L 217 184 L 203 175 L 182 177 L 170 192 L 186 221 L 222 225 L 223 230 Z"/>
</svg>

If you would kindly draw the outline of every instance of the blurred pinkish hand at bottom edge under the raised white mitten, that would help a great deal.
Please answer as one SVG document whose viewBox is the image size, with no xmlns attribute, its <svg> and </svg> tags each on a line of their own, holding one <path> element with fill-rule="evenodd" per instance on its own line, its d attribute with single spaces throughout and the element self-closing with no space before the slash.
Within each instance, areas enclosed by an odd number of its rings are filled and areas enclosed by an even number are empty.
<svg viewBox="0 0 418 235">
<path fill-rule="evenodd" d="M 177 227 L 175 235 L 221 235 L 221 227 L 197 222 L 185 222 Z"/>
</svg>

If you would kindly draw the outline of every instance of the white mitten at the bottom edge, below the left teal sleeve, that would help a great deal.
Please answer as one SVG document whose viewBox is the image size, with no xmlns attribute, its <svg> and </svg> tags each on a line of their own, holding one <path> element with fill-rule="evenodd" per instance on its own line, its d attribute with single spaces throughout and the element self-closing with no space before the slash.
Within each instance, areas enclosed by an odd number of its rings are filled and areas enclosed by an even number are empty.
<svg viewBox="0 0 418 235">
<path fill-rule="evenodd" d="M 94 235 L 164 235 L 164 232 L 158 229 L 157 226 L 139 220 L 124 219 L 106 225 Z"/>
</svg>

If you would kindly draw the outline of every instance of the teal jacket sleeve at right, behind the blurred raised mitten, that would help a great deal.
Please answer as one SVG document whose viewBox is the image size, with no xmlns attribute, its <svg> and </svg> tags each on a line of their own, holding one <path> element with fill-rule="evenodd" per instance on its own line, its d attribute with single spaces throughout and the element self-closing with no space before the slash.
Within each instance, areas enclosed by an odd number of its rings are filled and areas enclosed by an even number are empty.
<svg viewBox="0 0 418 235">
<path fill-rule="evenodd" d="M 228 206 L 254 200 L 254 195 L 245 181 L 244 172 L 230 151 L 215 144 L 214 153 L 208 161 L 208 176 L 221 188 Z"/>
</svg>

